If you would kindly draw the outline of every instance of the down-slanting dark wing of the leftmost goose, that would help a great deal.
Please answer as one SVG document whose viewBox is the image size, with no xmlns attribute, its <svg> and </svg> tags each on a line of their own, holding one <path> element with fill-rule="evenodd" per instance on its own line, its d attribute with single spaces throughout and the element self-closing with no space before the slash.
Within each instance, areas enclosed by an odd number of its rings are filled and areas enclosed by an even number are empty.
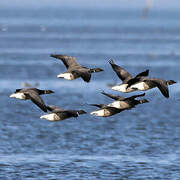
<svg viewBox="0 0 180 180">
<path fill-rule="evenodd" d="M 36 91 L 28 91 L 24 93 L 31 101 L 36 104 L 40 109 L 42 109 L 44 112 L 47 112 L 47 107 L 44 104 L 44 101 L 41 99 L 39 94 Z"/>
</svg>

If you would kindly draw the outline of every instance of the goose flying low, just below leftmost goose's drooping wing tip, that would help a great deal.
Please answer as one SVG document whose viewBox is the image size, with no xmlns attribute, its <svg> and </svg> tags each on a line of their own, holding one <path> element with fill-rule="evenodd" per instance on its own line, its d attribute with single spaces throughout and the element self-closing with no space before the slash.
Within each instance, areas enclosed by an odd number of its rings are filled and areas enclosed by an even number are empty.
<svg viewBox="0 0 180 180">
<path fill-rule="evenodd" d="M 71 117 L 78 117 L 78 115 L 86 114 L 84 110 L 63 110 L 58 106 L 47 106 L 47 109 L 51 111 L 49 114 L 42 115 L 41 119 L 47 119 L 49 121 L 60 121 Z"/>
</svg>

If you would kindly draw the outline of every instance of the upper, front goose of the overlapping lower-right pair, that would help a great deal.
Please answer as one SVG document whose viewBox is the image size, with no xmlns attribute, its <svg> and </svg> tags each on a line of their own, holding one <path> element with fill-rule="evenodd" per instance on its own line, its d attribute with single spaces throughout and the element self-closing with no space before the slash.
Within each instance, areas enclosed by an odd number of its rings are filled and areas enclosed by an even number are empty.
<svg viewBox="0 0 180 180">
<path fill-rule="evenodd" d="M 141 99 L 141 100 L 136 100 L 135 98 L 137 97 L 142 97 L 145 96 L 145 93 L 139 94 L 139 95 L 134 95 L 131 97 L 121 97 L 121 96 L 116 96 L 112 94 L 108 94 L 105 92 L 102 92 L 105 96 L 110 97 L 111 99 L 114 99 L 115 101 L 108 104 L 107 106 L 109 107 L 115 107 L 117 109 L 131 109 L 134 108 L 138 104 L 143 104 L 149 102 L 147 99 Z"/>
</svg>

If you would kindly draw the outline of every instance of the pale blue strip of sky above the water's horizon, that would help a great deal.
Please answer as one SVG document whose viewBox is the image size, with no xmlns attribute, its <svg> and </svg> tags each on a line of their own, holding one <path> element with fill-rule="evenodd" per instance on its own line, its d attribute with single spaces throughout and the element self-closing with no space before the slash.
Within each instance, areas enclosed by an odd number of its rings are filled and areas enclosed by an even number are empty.
<svg viewBox="0 0 180 180">
<path fill-rule="evenodd" d="M 117 7 L 143 8 L 147 4 L 158 9 L 178 9 L 180 0 L 0 0 L 0 7 Z"/>
</svg>

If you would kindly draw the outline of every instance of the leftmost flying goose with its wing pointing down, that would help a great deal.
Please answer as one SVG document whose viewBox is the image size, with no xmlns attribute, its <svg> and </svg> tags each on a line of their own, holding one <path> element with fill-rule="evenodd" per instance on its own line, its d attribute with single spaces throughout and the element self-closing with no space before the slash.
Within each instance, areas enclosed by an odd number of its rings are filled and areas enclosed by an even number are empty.
<svg viewBox="0 0 180 180">
<path fill-rule="evenodd" d="M 47 107 L 40 97 L 43 94 L 51 94 L 54 93 L 51 90 L 40 90 L 37 88 L 23 88 L 23 89 L 16 89 L 14 93 L 12 93 L 9 97 L 27 100 L 30 99 L 34 104 L 36 104 L 41 110 L 47 112 Z"/>
</svg>

